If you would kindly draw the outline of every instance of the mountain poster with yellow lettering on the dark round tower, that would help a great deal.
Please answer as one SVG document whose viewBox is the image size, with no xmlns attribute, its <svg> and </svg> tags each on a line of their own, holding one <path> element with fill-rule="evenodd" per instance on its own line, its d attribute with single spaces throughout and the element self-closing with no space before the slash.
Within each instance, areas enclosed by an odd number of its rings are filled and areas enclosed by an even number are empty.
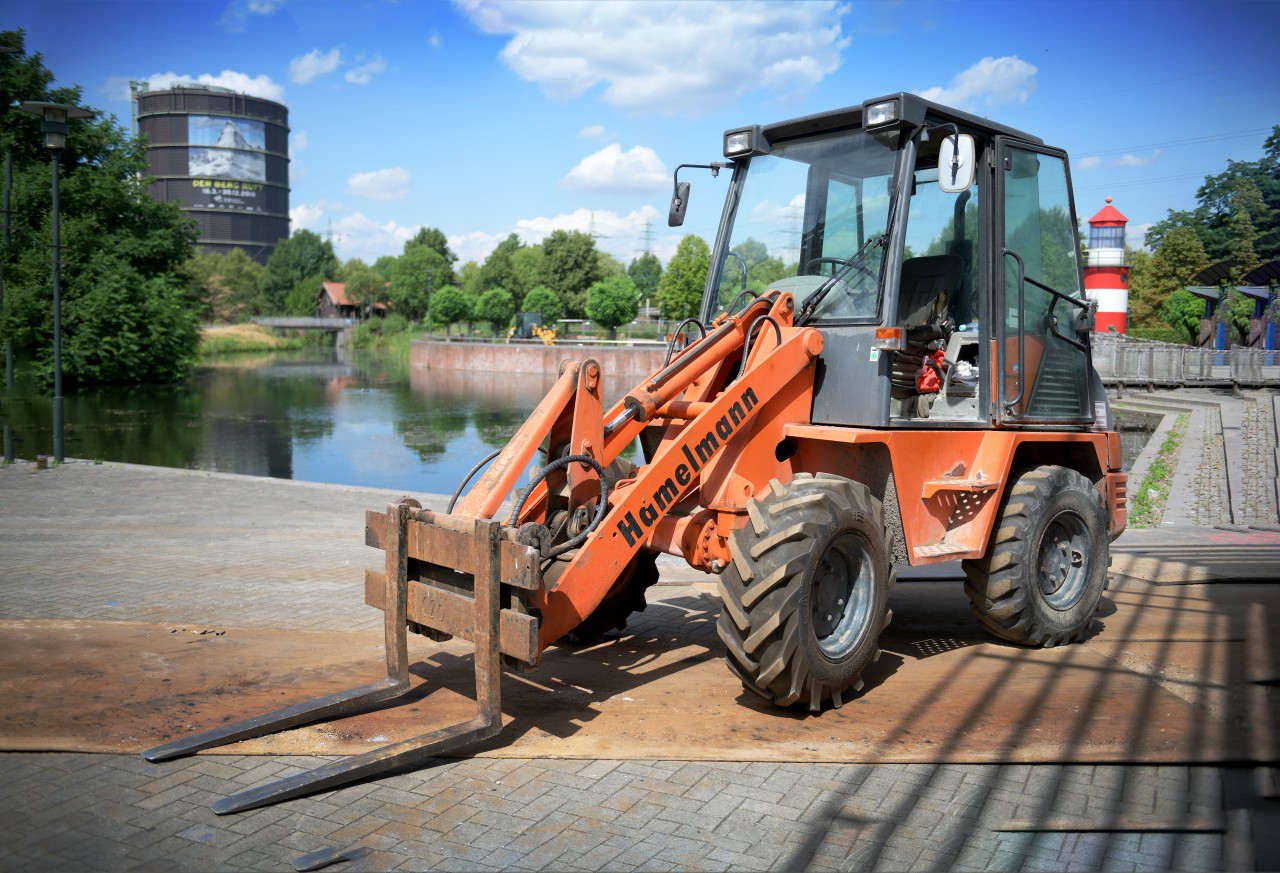
<svg viewBox="0 0 1280 873">
<path fill-rule="evenodd" d="M 223 115 L 189 115 L 187 172 L 192 206 L 261 212 L 266 180 L 262 122 Z"/>
</svg>

